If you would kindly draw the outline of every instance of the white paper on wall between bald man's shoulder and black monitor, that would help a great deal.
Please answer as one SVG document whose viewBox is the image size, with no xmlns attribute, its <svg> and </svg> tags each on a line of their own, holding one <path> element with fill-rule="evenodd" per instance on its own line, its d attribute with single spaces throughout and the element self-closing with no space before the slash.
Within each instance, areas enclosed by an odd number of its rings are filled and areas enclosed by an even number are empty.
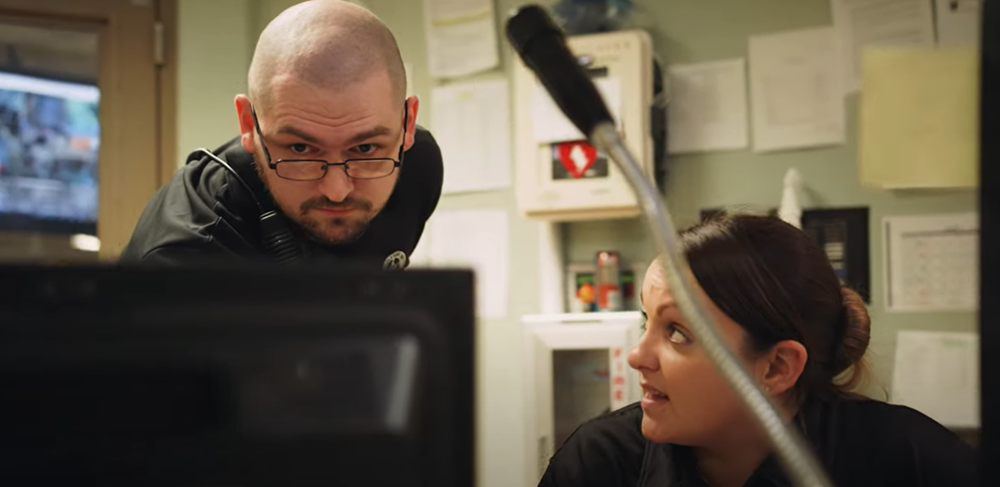
<svg viewBox="0 0 1000 487">
<path fill-rule="evenodd" d="M 510 281 L 509 230 L 503 210 L 439 210 L 413 253 L 413 267 L 463 268 L 475 272 L 476 315 L 507 317 Z"/>
</svg>

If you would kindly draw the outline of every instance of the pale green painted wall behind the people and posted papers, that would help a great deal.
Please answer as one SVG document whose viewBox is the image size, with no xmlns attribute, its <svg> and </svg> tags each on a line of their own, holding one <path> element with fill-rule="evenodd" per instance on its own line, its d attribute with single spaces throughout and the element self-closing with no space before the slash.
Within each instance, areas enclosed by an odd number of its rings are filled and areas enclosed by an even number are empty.
<svg viewBox="0 0 1000 487">
<path fill-rule="evenodd" d="M 199 145 L 218 144 L 236 135 L 232 97 L 245 89 L 246 67 L 256 36 L 266 23 L 294 0 L 181 0 L 181 69 L 179 153 Z M 414 67 L 413 92 L 422 100 L 419 122 L 430 121 L 431 88 L 440 84 L 427 70 L 422 6 L 418 0 L 364 0 L 393 30 L 404 60 Z M 525 2 L 497 0 L 498 32 L 502 16 Z M 552 1 L 539 2 L 551 4 Z M 648 30 L 657 54 L 668 64 L 746 57 L 747 36 L 828 25 L 828 0 L 636 0 L 635 25 Z M 209 20 L 210 19 L 210 20 Z M 219 23 L 222 22 L 222 26 Z M 211 28 L 207 25 L 211 24 Z M 477 77 L 505 76 L 513 58 L 501 43 L 501 69 Z M 857 182 L 856 99 L 847 101 L 845 145 L 774 154 L 749 151 L 713 152 L 675 157 L 670 161 L 666 201 L 679 226 L 691 224 L 703 208 L 742 205 L 767 208 L 778 204 L 785 171 L 802 174 L 807 206 L 869 206 L 872 264 L 873 341 L 870 348 L 876 385 L 888 387 L 897 330 L 974 330 L 974 313 L 895 314 L 885 310 L 881 252 L 881 219 L 888 215 L 971 211 L 973 191 L 887 192 L 862 188 Z M 518 318 L 539 307 L 537 284 L 538 226 L 517 212 L 513 189 L 445 196 L 441 209 L 501 208 L 511 217 L 509 316 L 487 321 L 478 329 L 478 485 L 508 487 L 524 477 L 521 453 L 524 434 L 521 329 Z M 602 249 L 621 250 L 627 259 L 648 261 L 652 248 L 639 220 L 564 225 L 567 256 L 591 260 Z M 873 387 L 874 391 L 875 388 Z"/>
</svg>

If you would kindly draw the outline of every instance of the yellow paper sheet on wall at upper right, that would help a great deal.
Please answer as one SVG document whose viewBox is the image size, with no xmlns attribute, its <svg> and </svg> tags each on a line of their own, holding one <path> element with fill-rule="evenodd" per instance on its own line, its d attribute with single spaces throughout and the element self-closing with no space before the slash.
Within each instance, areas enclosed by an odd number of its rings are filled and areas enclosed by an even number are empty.
<svg viewBox="0 0 1000 487">
<path fill-rule="evenodd" d="M 979 181 L 979 50 L 870 48 L 858 112 L 861 184 L 974 187 Z"/>
</svg>

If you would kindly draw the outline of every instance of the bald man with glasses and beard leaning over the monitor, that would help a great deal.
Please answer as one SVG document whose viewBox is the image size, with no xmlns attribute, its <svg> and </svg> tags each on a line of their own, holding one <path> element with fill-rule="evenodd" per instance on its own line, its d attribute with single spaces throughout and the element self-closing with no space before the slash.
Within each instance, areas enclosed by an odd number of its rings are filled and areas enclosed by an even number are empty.
<svg viewBox="0 0 1000 487">
<path fill-rule="evenodd" d="M 404 267 L 443 170 L 416 126 L 418 100 L 406 96 L 385 24 L 339 0 L 295 5 L 261 33 L 248 87 L 236 97 L 240 136 L 188 157 L 146 207 L 122 262 Z"/>
</svg>

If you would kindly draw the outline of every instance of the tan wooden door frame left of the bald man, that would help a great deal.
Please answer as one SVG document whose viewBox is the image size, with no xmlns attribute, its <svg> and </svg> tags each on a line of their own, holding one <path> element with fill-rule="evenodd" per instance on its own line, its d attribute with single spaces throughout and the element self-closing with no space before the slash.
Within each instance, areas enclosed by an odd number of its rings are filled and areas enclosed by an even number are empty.
<svg viewBox="0 0 1000 487">
<path fill-rule="evenodd" d="M 150 15 L 152 26 L 147 24 Z M 114 260 L 153 192 L 169 181 L 177 168 L 177 1 L 0 0 L 0 18 L 40 27 L 91 27 L 100 36 L 98 78 L 102 93 L 153 85 L 151 106 L 156 113 L 152 121 L 143 117 L 143 127 L 129 126 L 122 120 L 135 115 L 134 107 L 115 97 L 101 99 L 98 236 L 101 259 Z M 154 56 L 157 29 L 162 30 L 160 62 Z M 134 42 L 142 37 L 146 40 Z M 124 38 L 133 43 L 123 42 Z M 145 54 L 137 55 L 141 50 L 148 50 L 149 62 L 154 63 L 152 73 L 129 70 L 129 65 L 121 64 L 129 56 L 145 59 Z M 148 146 L 155 146 L 155 151 L 142 149 Z"/>
</svg>

